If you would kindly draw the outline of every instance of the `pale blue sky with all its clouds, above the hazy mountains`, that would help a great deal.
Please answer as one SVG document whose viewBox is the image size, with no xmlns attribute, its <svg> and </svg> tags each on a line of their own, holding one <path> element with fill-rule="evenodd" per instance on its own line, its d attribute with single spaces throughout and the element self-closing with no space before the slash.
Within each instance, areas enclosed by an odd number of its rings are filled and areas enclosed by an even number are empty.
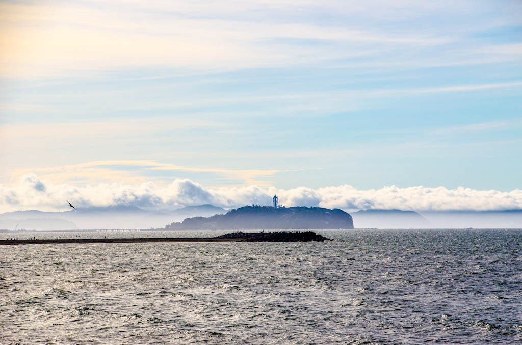
<svg viewBox="0 0 522 345">
<path fill-rule="evenodd" d="M 0 1 L 0 212 L 522 208 L 520 1 Z"/>
</svg>

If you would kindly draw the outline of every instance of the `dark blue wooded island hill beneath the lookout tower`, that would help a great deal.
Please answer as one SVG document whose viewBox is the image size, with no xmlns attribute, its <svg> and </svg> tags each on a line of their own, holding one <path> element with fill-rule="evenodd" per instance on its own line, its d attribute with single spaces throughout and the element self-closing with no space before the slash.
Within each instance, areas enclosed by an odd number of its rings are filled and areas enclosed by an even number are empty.
<svg viewBox="0 0 522 345">
<path fill-rule="evenodd" d="M 243 206 L 212 217 L 187 218 L 167 230 L 353 229 L 352 217 L 338 208 Z"/>
</svg>

